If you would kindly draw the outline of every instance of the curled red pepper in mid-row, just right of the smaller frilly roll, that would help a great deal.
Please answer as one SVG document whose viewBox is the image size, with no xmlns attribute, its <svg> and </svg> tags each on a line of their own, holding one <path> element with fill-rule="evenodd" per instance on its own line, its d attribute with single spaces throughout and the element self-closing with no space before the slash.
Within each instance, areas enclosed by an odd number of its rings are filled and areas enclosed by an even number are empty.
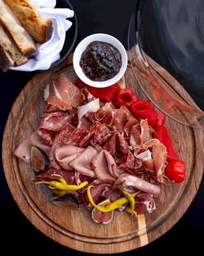
<svg viewBox="0 0 204 256">
<path fill-rule="evenodd" d="M 156 124 L 157 113 L 154 108 L 151 108 L 150 102 L 139 100 L 138 102 L 133 103 L 131 106 L 131 113 L 137 119 L 147 118 L 149 125 L 152 127 Z"/>
</svg>

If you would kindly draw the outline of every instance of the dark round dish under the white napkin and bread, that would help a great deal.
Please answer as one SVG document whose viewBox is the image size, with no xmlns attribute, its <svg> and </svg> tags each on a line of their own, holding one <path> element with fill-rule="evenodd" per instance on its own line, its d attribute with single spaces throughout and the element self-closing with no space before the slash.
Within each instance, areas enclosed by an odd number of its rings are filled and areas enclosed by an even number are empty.
<svg viewBox="0 0 204 256">
<path fill-rule="evenodd" d="M 57 4 L 56 4 L 55 8 L 69 8 L 69 9 L 74 11 L 73 6 L 71 5 L 71 3 L 69 3 L 68 0 L 57 1 Z M 65 37 L 64 45 L 63 45 L 63 48 L 60 52 L 61 58 L 60 58 L 60 60 L 57 60 L 54 63 L 52 63 L 52 65 L 50 66 L 50 68 L 48 68 L 48 70 L 56 67 L 62 61 L 64 61 L 68 57 L 69 53 L 73 50 L 73 48 L 75 46 L 75 43 L 77 41 L 77 34 L 78 34 L 78 24 L 77 24 L 76 14 L 74 15 L 73 18 L 69 18 L 68 20 L 70 20 L 72 22 L 72 25 L 71 25 L 71 28 L 69 28 L 68 31 L 66 31 L 66 37 Z M 39 72 L 39 71 L 42 72 L 42 71 L 47 71 L 47 70 L 36 70 L 36 71 L 37 72 Z"/>
</svg>

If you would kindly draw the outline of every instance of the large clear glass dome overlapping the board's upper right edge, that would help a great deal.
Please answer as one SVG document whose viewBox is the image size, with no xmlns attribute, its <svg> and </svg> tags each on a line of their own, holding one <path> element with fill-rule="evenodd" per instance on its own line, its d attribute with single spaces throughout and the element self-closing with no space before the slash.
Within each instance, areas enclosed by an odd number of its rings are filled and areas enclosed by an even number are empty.
<svg viewBox="0 0 204 256">
<path fill-rule="evenodd" d="M 128 41 L 131 67 L 147 97 L 171 118 L 203 129 L 204 113 L 184 88 L 204 107 L 204 1 L 138 1 Z"/>
</svg>

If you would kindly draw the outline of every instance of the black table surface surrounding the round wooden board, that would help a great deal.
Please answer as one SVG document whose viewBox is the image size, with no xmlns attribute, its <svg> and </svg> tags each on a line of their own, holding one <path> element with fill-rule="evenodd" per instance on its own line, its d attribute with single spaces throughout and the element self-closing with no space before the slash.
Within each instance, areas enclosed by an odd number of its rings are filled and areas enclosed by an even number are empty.
<svg viewBox="0 0 204 256">
<path fill-rule="evenodd" d="M 128 44 L 128 26 L 131 13 L 135 10 L 135 0 L 70 0 L 78 18 L 78 39 L 80 42 L 85 36 L 94 33 L 107 33 L 118 38 L 125 47 Z M 33 72 L 6 73 L 0 71 L 1 84 L 1 141 L 4 125 L 10 113 L 11 106 L 25 84 L 33 77 Z M 204 95 L 203 95 L 204 96 Z M 196 102 L 201 106 L 203 102 Z M 203 109 L 204 110 L 204 109 Z M 11 131 L 12 132 L 12 131 Z M 8 141 L 10 143 L 10 141 Z M 204 160 L 204 159 L 203 159 Z M 55 243 L 34 227 L 24 214 L 18 209 L 6 184 L 1 161 L 0 166 L 0 220 L 1 220 L 1 251 L 15 250 L 15 253 L 51 253 L 51 255 L 87 255 Z M 138 248 L 137 250 L 122 253 L 131 255 L 138 253 L 183 252 L 193 249 L 194 253 L 202 252 L 204 233 L 204 180 L 196 194 L 193 203 L 179 222 L 166 234 L 156 241 Z"/>
</svg>

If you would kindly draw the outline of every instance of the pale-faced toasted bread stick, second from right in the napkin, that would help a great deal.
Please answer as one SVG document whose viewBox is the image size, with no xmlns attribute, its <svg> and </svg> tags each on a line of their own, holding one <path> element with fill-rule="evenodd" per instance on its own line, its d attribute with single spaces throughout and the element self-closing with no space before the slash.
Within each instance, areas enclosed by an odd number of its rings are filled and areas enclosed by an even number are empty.
<svg viewBox="0 0 204 256">
<path fill-rule="evenodd" d="M 3 0 L 0 0 L 0 20 L 12 36 L 22 54 L 29 56 L 37 51 L 33 39 L 27 33 L 25 28 L 21 26 L 20 21 L 15 17 L 11 9 L 3 2 Z"/>
</svg>

